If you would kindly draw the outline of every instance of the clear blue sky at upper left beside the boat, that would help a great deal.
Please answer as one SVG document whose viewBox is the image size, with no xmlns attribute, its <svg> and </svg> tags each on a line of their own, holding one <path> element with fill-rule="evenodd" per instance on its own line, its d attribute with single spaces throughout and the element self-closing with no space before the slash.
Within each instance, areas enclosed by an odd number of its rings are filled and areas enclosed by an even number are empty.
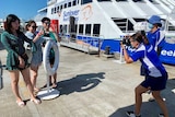
<svg viewBox="0 0 175 117">
<path fill-rule="evenodd" d="M 20 19 L 31 20 L 37 10 L 47 5 L 47 0 L 0 0 L 0 19 L 15 14 Z"/>
</svg>

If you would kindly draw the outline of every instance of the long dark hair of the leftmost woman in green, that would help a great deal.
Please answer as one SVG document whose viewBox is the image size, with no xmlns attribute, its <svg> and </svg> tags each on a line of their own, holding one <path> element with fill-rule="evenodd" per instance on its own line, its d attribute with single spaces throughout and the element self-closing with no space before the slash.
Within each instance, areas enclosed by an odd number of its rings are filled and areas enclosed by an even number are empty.
<svg viewBox="0 0 175 117">
<path fill-rule="evenodd" d="M 15 22 L 15 21 L 19 21 L 20 23 L 20 19 L 14 15 L 14 14 L 9 14 L 7 16 L 7 21 L 5 21 L 5 31 L 9 32 L 9 33 L 12 33 L 11 32 L 11 27 L 12 27 L 12 22 Z M 20 33 L 20 26 L 19 26 L 19 30 L 16 31 L 18 33 Z"/>
</svg>

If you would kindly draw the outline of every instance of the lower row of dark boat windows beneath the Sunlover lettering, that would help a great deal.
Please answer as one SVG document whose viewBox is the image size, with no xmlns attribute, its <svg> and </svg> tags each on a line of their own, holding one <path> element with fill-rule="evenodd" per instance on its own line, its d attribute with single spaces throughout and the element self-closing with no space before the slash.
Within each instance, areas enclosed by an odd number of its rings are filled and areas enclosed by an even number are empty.
<svg viewBox="0 0 175 117">
<path fill-rule="evenodd" d="M 101 24 L 60 25 L 60 34 L 100 35 Z"/>
</svg>

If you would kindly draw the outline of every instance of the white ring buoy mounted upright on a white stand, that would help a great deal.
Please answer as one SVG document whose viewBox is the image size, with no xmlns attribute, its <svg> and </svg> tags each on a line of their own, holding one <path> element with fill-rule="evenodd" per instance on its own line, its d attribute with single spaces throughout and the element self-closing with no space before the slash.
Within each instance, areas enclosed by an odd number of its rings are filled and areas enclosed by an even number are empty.
<svg viewBox="0 0 175 117">
<path fill-rule="evenodd" d="M 50 62 L 49 62 L 49 52 L 51 48 L 55 51 L 55 61 L 52 67 L 50 67 Z M 57 72 L 57 69 L 59 66 L 59 49 L 58 49 L 57 43 L 52 39 L 47 40 L 45 45 L 43 62 L 44 62 L 44 69 L 48 75 L 52 75 L 54 73 Z"/>
</svg>

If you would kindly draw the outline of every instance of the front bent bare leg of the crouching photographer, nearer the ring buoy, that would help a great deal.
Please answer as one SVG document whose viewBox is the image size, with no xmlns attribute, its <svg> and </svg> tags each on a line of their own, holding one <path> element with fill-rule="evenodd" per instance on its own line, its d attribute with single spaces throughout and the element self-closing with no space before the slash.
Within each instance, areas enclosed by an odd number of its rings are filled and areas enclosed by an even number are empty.
<svg viewBox="0 0 175 117">
<path fill-rule="evenodd" d="M 147 92 L 148 89 L 138 85 L 135 89 L 135 94 L 136 94 L 136 106 L 135 106 L 135 114 L 136 115 L 140 115 L 140 108 L 141 108 L 141 104 L 142 104 L 142 93 Z"/>
</svg>

